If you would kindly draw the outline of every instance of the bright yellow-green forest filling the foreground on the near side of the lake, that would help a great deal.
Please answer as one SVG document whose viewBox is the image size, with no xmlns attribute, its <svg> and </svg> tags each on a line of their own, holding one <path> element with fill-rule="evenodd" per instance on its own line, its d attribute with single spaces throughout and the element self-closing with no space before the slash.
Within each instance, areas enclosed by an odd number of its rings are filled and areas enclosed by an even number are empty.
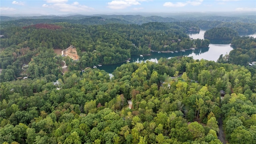
<svg viewBox="0 0 256 144">
<path fill-rule="evenodd" d="M 255 73 L 183 57 L 124 64 L 112 79 L 87 69 L 2 82 L 1 143 L 221 144 L 222 117 L 230 143 L 255 144 Z"/>
</svg>

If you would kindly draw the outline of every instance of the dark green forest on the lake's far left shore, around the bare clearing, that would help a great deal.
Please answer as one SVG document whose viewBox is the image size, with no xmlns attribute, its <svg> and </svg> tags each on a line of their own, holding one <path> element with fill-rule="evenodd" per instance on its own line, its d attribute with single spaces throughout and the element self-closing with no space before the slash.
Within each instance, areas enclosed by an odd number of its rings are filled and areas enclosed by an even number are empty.
<svg viewBox="0 0 256 144">
<path fill-rule="evenodd" d="M 97 64 L 123 62 L 131 55 L 150 54 L 151 50 L 208 48 L 210 41 L 191 40 L 185 33 L 189 29 L 198 30 L 189 22 L 150 22 L 142 25 L 58 22 L 1 28 L 5 38 L 1 38 L 0 44 L 0 68 L 3 69 L 0 80 L 15 80 L 25 74 L 32 78 L 47 74 L 58 76 L 63 60 L 70 65 L 70 70 L 81 70 Z M 79 60 L 53 53 L 53 49 L 64 50 L 70 44 L 76 47 Z M 50 61 L 53 57 L 54 60 Z M 23 64 L 28 64 L 26 73 L 22 73 Z"/>
</svg>

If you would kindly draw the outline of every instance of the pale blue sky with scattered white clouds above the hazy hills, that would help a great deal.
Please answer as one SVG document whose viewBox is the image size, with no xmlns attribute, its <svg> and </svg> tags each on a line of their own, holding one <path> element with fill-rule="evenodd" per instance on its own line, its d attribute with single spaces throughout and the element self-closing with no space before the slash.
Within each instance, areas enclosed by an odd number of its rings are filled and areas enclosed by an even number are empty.
<svg viewBox="0 0 256 144">
<path fill-rule="evenodd" d="M 232 12 L 256 14 L 256 0 L 1 0 L 0 14 L 119 14 Z"/>
</svg>

